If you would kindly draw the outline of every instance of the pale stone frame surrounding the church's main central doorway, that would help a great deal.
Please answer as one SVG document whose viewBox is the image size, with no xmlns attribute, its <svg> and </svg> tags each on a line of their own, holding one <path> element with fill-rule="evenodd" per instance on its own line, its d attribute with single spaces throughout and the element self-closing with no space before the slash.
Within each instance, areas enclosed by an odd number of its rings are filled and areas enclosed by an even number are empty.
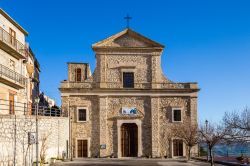
<svg viewBox="0 0 250 166">
<path fill-rule="evenodd" d="M 133 120 L 117 120 L 117 138 L 118 138 L 118 158 L 122 157 L 121 153 L 121 126 L 123 123 L 135 123 L 138 127 L 138 157 L 142 156 L 142 128 L 141 128 L 141 120 L 133 119 Z"/>
</svg>

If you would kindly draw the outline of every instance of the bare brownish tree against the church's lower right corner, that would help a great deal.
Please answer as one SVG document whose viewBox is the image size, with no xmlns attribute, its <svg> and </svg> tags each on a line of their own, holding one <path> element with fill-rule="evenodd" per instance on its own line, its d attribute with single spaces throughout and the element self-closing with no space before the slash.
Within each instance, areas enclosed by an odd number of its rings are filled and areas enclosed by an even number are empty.
<svg viewBox="0 0 250 166">
<path fill-rule="evenodd" d="M 184 121 L 182 124 L 173 127 L 173 133 L 176 137 L 182 138 L 187 146 L 188 156 L 187 159 L 191 158 L 192 147 L 198 144 L 198 126 L 192 124 L 190 121 Z"/>
</svg>

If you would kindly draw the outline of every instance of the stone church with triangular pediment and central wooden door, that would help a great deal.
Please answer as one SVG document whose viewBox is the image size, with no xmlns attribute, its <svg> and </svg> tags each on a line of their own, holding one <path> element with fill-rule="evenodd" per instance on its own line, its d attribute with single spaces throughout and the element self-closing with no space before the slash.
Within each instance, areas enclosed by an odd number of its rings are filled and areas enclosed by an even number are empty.
<svg viewBox="0 0 250 166">
<path fill-rule="evenodd" d="M 164 46 L 131 29 L 92 48 L 94 72 L 88 63 L 68 63 L 60 85 L 72 157 L 185 156 L 170 128 L 197 123 L 197 83 L 170 81 L 161 69 Z"/>
</svg>

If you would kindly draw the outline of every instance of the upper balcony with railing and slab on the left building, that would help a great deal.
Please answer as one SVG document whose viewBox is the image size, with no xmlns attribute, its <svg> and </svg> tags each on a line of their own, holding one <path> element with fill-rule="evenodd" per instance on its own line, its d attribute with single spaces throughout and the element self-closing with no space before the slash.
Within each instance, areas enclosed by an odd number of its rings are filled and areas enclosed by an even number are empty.
<svg viewBox="0 0 250 166">
<path fill-rule="evenodd" d="M 25 46 L 0 27 L 0 48 L 17 59 L 25 59 Z"/>
</svg>

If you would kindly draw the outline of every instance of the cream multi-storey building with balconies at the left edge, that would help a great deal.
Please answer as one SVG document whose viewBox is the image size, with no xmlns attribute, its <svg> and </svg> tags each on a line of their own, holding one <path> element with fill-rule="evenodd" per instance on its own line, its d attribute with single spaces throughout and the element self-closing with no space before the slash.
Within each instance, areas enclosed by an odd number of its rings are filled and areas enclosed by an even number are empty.
<svg viewBox="0 0 250 166">
<path fill-rule="evenodd" d="M 39 94 L 40 66 L 25 41 L 27 35 L 0 9 L 0 114 L 30 113 Z"/>
</svg>

